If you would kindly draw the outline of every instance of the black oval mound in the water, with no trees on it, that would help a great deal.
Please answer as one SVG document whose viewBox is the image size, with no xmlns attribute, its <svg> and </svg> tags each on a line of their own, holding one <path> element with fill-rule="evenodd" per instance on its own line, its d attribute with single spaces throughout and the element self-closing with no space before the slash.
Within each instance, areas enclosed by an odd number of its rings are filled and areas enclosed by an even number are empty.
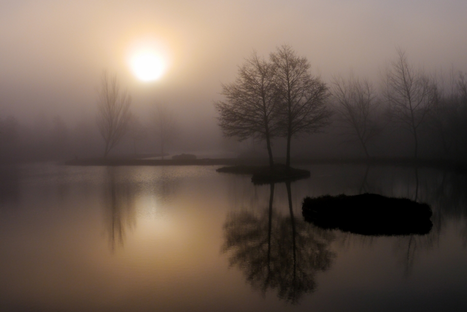
<svg viewBox="0 0 467 312">
<path fill-rule="evenodd" d="M 305 197 L 302 214 L 322 228 L 362 235 L 424 235 L 432 227 L 427 204 L 368 193 Z"/>
</svg>

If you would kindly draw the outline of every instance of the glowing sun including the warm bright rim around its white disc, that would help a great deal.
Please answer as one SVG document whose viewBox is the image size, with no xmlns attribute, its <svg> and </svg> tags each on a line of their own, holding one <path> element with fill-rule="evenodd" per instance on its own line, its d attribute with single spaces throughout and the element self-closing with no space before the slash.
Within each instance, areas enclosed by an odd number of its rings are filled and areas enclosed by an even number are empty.
<svg viewBox="0 0 467 312">
<path fill-rule="evenodd" d="M 161 78 L 168 63 L 164 50 L 163 46 L 151 40 L 134 44 L 128 61 L 135 76 L 146 82 Z"/>
</svg>

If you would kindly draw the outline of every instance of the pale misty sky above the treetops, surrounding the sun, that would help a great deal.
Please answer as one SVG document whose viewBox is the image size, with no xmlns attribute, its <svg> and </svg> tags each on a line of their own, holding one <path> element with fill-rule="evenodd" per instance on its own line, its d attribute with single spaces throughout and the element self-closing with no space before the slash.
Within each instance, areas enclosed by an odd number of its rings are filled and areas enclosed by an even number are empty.
<svg viewBox="0 0 467 312">
<path fill-rule="evenodd" d="M 284 43 L 325 81 L 349 69 L 377 77 L 397 46 L 425 69 L 467 71 L 466 13 L 466 0 L 0 0 L 0 117 L 93 116 L 108 69 L 137 114 L 162 103 L 183 121 L 208 118 L 214 127 L 220 84 L 233 81 L 253 49 L 267 56 Z M 129 47 L 145 38 L 170 56 L 152 83 L 127 64 Z"/>
</svg>

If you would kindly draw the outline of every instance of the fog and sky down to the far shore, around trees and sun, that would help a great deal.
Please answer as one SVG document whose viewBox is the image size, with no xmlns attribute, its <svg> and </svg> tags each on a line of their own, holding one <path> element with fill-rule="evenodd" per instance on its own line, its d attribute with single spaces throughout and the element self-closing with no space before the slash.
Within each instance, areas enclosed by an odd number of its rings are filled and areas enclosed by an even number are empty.
<svg viewBox="0 0 467 312">
<path fill-rule="evenodd" d="M 440 89 L 449 89 L 458 72 L 467 72 L 465 12 L 465 0 L 2 0 L 0 153 L 10 160 L 102 156 L 96 114 L 103 70 L 115 73 L 127 88 L 131 111 L 148 133 L 137 142 L 127 135 L 112 151 L 115 155 L 159 152 L 152 129 L 157 105 L 168 107 L 177 121 L 169 154 L 266 153 L 263 142 L 223 139 L 213 105 L 222 99 L 221 84 L 235 80 L 253 50 L 267 58 L 287 44 L 329 86 L 333 76 L 346 77 L 352 70 L 379 90 L 382 72 L 400 48 L 414 67 L 436 78 Z M 142 82 L 128 65 L 131 47 L 141 40 L 157 42 L 165 53 L 167 69 L 159 80 Z M 384 131 L 371 143 L 371 155 L 412 156 L 411 134 L 383 115 Z M 449 118 L 440 122 L 452 124 Z M 343 138 L 346 130 L 337 115 L 333 121 L 323 133 L 294 140 L 292 155 L 364 156 L 358 144 Z M 420 155 L 465 157 L 465 151 L 443 147 L 433 124 L 427 118 L 421 125 Z M 463 144 L 461 137 L 457 144 Z M 284 139 L 273 143 L 275 156 L 284 156 Z"/>
</svg>

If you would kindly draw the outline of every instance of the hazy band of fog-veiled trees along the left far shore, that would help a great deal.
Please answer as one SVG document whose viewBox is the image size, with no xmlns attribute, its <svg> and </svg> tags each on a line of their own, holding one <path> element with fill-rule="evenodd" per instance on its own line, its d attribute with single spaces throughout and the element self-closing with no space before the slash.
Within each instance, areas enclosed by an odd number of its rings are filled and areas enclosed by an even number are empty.
<svg viewBox="0 0 467 312">
<path fill-rule="evenodd" d="M 97 113 L 83 116 L 74 125 L 59 115 L 39 114 L 32 125 L 22 125 L 12 116 L 0 116 L 0 162 L 69 160 L 117 155 L 136 155 L 138 149 L 164 155 L 177 134 L 173 111 L 155 105 L 146 123 L 131 113 L 131 97 L 122 90 L 116 75 L 104 72 L 98 88 Z"/>
</svg>

